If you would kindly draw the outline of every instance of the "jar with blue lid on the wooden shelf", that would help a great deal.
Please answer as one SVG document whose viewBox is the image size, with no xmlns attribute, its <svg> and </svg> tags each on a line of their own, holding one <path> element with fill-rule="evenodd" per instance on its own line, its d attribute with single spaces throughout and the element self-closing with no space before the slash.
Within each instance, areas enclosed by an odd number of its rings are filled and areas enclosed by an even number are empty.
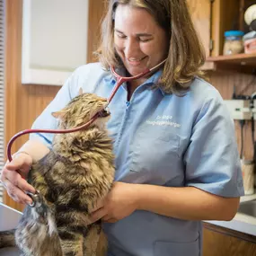
<svg viewBox="0 0 256 256">
<path fill-rule="evenodd" d="M 243 53 L 243 31 L 225 31 L 223 55 Z"/>
</svg>

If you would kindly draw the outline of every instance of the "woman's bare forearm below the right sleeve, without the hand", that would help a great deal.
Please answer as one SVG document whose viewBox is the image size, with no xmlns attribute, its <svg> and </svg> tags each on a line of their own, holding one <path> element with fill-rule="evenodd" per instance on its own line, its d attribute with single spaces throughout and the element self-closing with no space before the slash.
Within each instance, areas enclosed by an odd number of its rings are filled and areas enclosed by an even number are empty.
<svg viewBox="0 0 256 256">
<path fill-rule="evenodd" d="M 231 220 L 240 198 L 223 198 L 195 187 L 135 185 L 137 209 L 187 220 Z"/>
</svg>

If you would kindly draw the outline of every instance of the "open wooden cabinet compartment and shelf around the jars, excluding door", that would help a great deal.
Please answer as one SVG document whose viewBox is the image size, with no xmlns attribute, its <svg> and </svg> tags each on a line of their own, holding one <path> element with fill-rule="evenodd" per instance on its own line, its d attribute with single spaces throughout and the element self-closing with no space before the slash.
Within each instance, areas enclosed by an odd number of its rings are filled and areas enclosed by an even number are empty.
<svg viewBox="0 0 256 256">
<path fill-rule="evenodd" d="M 256 68 L 256 54 L 237 54 L 223 56 L 224 32 L 240 30 L 247 33 L 249 26 L 245 24 L 245 10 L 255 4 L 252 0 L 214 0 L 212 15 L 212 39 L 214 48 L 208 62 L 214 64 L 213 70 L 232 70 L 252 74 Z"/>
</svg>

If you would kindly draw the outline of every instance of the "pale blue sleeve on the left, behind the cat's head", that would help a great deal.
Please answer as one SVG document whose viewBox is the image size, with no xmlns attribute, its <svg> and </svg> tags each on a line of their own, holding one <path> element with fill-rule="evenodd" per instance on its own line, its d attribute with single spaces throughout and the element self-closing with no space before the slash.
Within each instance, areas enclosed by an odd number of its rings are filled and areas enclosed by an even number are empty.
<svg viewBox="0 0 256 256">
<path fill-rule="evenodd" d="M 42 111 L 40 116 L 34 121 L 31 128 L 36 129 L 57 129 L 58 120 L 51 113 L 63 109 L 68 102 L 75 97 L 77 87 L 77 76 L 70 75 L 66 83 L 60 88 L 56 97 L 49 103 L 48 107 Z M 51 148 L 54 134 L 51 133 L 31 133 L 30 139 L 40 140 L 44 145 Z"/>
</svg>

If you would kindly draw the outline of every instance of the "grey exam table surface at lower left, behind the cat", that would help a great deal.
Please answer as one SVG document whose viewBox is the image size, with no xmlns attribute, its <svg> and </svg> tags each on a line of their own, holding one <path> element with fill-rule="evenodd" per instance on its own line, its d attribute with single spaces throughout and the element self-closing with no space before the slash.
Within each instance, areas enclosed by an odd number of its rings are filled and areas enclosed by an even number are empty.
<svg viewBox="0 0 256 256">
<path fill-rule="evenodd" d="M 0 203 L 0 231 L 13 229 L 19 222 L 22 213 Z M 17 248 L 0 249 L 0 256 L 18 256 Z"/>
</svg>

